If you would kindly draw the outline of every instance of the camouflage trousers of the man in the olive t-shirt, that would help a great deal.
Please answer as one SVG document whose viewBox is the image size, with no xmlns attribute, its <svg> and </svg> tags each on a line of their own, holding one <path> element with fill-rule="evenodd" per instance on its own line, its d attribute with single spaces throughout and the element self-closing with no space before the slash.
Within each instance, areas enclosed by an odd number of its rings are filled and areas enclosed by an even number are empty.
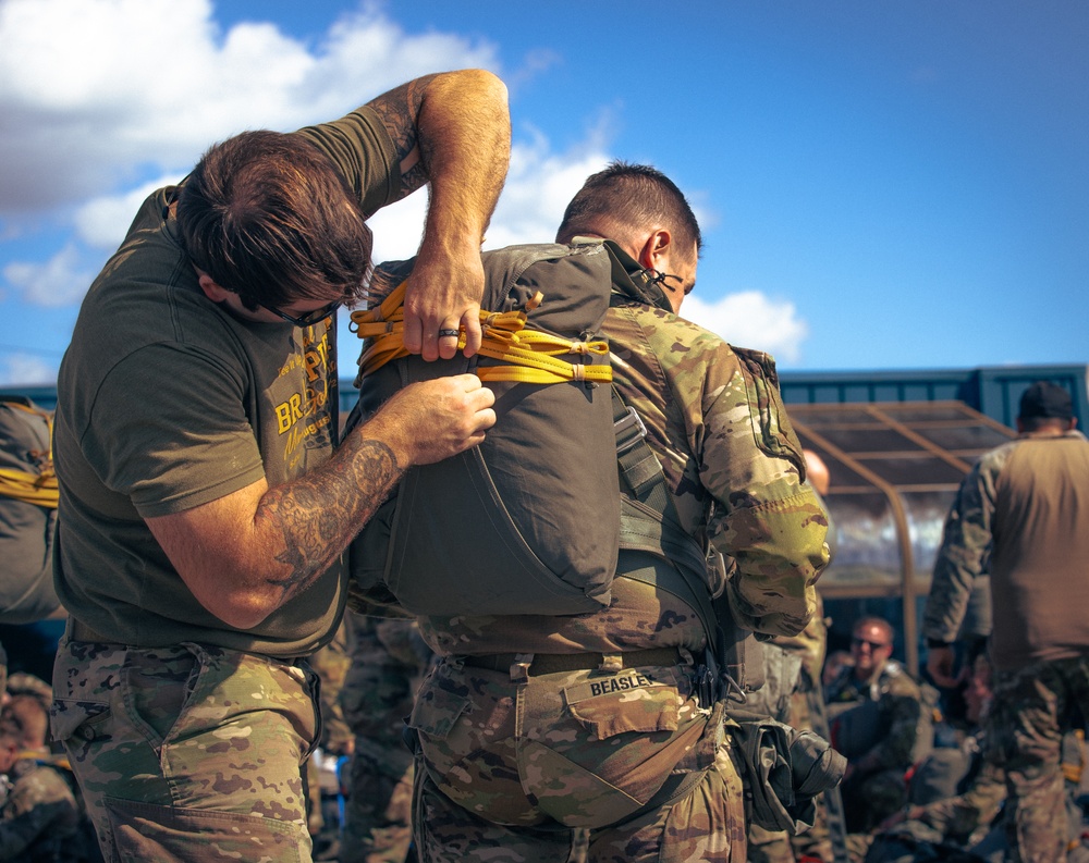
<svg viewBox="0 0 1089 863">
<path fill-rule="evenodd" d="M 310 860 L 301 766 L 319 720 L 305 663 L 65 638 L 53 689 L 52 733 L 107 861 Z"/>
</svg>

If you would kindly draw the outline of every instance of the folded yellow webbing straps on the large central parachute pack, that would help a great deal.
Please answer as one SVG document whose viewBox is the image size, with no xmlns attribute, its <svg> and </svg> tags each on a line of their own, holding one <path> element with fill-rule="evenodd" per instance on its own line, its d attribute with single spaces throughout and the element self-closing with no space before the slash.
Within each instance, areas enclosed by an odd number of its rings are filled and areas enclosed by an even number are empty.
<svg viewBox="0 0 1089 863">
<path fill-rule="evenodd" d="M 359 338 L 371 340 L 359 360 L 364 374 L 380 369 L 391 359 L 407 357 L 404 346 L 405 282 L 382 300 L 380 306 L 352 312 L 352 331 Z M 540 292 L 526 304 L 526 311 L 540 305 Z M 558 335 L 526 330 L 525 311 L 481 311 L 480 330 L 482 357 L 507 363 L 478 366 L 481 381 L 511 381 L 515 383 L 563 383 L 565 381 L 612 381 L 612 367 L 608 363 L 587 366 L 568 362 L 563 356 L 609 355 L 608 342 L 578 342 Z M 465 334 L 457 338 L 458 349 L 465 347 Z"/>
</svg>

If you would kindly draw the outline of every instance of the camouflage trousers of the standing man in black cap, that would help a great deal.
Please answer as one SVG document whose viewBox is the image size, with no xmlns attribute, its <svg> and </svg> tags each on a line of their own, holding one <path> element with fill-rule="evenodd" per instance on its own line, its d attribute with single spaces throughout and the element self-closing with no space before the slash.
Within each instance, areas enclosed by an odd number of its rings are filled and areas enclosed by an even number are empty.
<svg viewBox="0 0 1089 863">
<path fill-rule="evenodd" d="M 998 673 L 992 711 L 993 754 L 1006 770 L 1006 859 L 1064 861 L 1063 735 L 1075 715 L 1089 716 L 1089 656 Z"/>
</svg>

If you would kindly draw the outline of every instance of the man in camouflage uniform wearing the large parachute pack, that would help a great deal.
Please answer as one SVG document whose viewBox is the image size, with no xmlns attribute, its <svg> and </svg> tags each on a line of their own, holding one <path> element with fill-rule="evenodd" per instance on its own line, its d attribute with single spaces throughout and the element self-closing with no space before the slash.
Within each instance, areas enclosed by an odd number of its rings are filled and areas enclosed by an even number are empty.
<svg viewBox="0 0 1089 863">
<path fill-rule="evenodd" d="M 825 513 L 770 358 L 677 317 L 700 245 L 683 194 L 654 169 L 613 164 L 568 206 L 558 243 L 573 241 L 612 256 L 614 385 L 682 529 L 736 560 L 724 590 L 738 622 L 800 631 L 828 562 Z M 419 618 L 441 657 L 411 718 L 421 861 L 559 863 L 580 840 L 592 863 L 745 860 L 724 693 L 697 685 L 703 625 L 645 580 L 674 564 L 622 543 L 602 611 Z"/>
</svg>

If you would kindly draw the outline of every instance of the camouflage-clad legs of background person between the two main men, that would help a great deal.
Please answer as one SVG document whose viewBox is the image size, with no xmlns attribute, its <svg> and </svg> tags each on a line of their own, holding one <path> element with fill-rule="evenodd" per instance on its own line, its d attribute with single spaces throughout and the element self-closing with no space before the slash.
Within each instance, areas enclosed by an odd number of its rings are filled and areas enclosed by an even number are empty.
<svg viewBox="0 0 1089 863">
<path fill-rule="evenodd" d="M 412 844 L 413 756 L 404 719 L 431 663 L 415 620 L 348 612 L 352 665 L 341 706 L 355 735 L 340 863 L 404 863 Z"/>
</svg>

